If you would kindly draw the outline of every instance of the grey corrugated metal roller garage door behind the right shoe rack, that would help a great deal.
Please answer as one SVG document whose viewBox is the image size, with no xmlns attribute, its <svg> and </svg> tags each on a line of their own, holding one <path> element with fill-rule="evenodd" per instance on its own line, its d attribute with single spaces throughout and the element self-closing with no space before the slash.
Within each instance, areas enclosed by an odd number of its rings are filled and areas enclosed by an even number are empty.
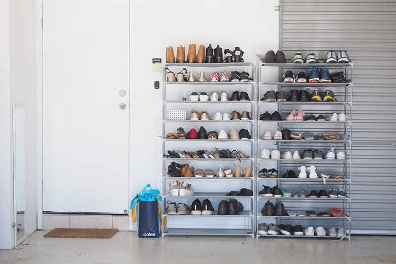
<svg viewBox="0 0 396 264">
<path fill-rule="evenodd" d="M 354 64 L 352 234 L 396 234 L 396 3 L 280 1 L 290 58 L 347 50 Z"/>
</svg>

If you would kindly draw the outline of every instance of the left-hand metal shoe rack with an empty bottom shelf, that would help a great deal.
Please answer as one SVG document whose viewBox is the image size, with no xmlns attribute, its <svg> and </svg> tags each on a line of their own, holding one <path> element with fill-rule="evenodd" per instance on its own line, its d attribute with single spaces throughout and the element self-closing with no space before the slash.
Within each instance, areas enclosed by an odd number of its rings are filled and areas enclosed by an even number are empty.
<svg viewBox="0 0 396 264">
<path fill-rule="evenodd" d="M 185 69 L 185 70 L 183 70 Z M 168 79 L 169 71 L 174 73 L 179 81 L 170 81 Z M 257 98 L 256 82 L 251 81 L 229 81 L 214 82 L 209 81 L 213 73 L 227 73 L 228 76 L 232 72 L 246 72 L 250 74 L 250 78 L 254 80 L 256 73 L 256 65 L 251 62 L 234 62 L 234 63 L 166 63 L 163 65 L 163 115 L 162 115 L 162 137 L 163 137 L 163 176 L 162 176 L 162 197 L 163 197 L 163 217 L 167 219 L 167 225 L 163 227 L 162 237 L 166 235 L 214 235 L 214 236 L 255 236 L 255 198 L 253 192 L 239 196 L 227 196 L 230 191 L 240 191 L 242 188 L 253 190 L 255 188 L 254 177 L 256 173 L 254 168 L 255 146 L 254 139 L 257 117 L 255 108 Z M 200 76 L 199 76 L 200 75 Z M 183 76 L 186 78 L 184 79 Z M 188 80 L 188 77 L 196 77 L 196 81 Z M 201 78 L 201 81 L 199 80 Z M 203 81 L 203 79 L 207 81 Z M 244 101 L 204 101 L 198 100 L 200 96 L 211 96 L 213 92 L 225 94 L 229 97 L 237 92 L 247 93 L 248 100 Z M 196 92 L 196 101 L 190 97 Z M 241 93 L 242 95 L 242 93 Z M 193 96 L 193 95 L 191 95 Z M 242 97 L 242 96 L 241 96 Z M 203 98 L 203 97 L 201 97 Z M 245 98 L 246 99 L 246 98 Z M 196 110 L 197 116 L 189 118 L 191 110 Z M 204 119 L 206 111 L 210 119 Z M 246 111 L 253 116 L 245 120 L 223 120 L 224 114 L 232 116 L 233 112 L 242 113 Z M 212 118 L 217 114 L 218 118 Z M 201 115 L 200 115 L 201 114 Z M 195 120 L 192 120 L 195 119 Z M 227 118 L 225 118 L 227 119 Z M 208 136 L 211 131 L 220 134 L 221 130 L 228 133 L 230 130 L 241 131 L 246 129 L 250 134 L 250 139 L 182 139 L 184 137 L 175 137 L 169 135 L 175 131 L 185 131 L 185 134 L 193 134 L 198 131 L 200 136 L 200 127 L 205 128 Z M 202 129 L 201 129 L 202 130 Z M 213 133 L 212 133 L 213 134 Z M 238 133 L 237 133 L 238 134 Z M 181 134 L 179 134 L 181 135 Z M 168 136 L 168 137 L 167 137 Z M 227 138 L 227 137 L 226 137 Z M 222 156 L 222 158 L 213 158 L 216 149 L 234 154 L 243 153 L 239 158 L 232 156 Z M 201 150 L 207 150 L 208 156 L 212 158 L 195 158 L 190 156 L 192 153 L 201 153 Z M 185 153 L 185 158 L 170 156 L 169 151 Z M 174 153 L 171 152 L 171 153 Z M 202 152 L 205 153 L 205 152 Z M 247 157 L 248 156 L 248 157 Z M 172 162 L 179 163 L 184 167 L 188 165 L 193 167 L 194 177 L 174 177 L 168 174 L 168 168 L 172 166 Z M 173 163 L 174 164 L 174 163 Z M 250 177 L 216 177 L 219 167 L 234 170 L 234 166 L 241 168 L 241 175 L 246 171 L 251 172 Z M 202 171 L 201 171 L 201 170 Z M 199 173 L 201 171 L 201 173 Z M 204 174 L 203 177 L 197 177 Z M 191 176 L 191 174 L 189 174 Z M 247 176 L 249 176 L 247 175 Z M 212 177 L 211 177 L 212 176 Z M 214 177 L 213 177 L 214 176 Z M 178 181 L 178 182 L 175 182 Z M 184 186 L 183 186 L 184 182 Z M 177 195 L 177 184 L 180 184 L 180 190 L 188 188 L 189 191 L 182 190 Z M 170 190 L 170 185 L 175 190 Z M 186 187 L 187 186 L 187 187 Z M 193 192 L 193 193 L 192 193 Z M 187 194 L 188 196 L 183 196 Z M 182 195 L 182 196 L 180 196 Z M 243 205 L 242 211 L 219 212 L 220 203 L 233 203 L 237 200 L 237 205 Z M 196 201 L 197 200 L 197 201 Z M 167 214 L 166 208 L 170 203 L 175 205 L 184 203 L 188 206 L 193 203 L 211 203 L 213 211 L 204 211 L 200 214 Z M 204 202 L 205 201 L 205 202 Z M 231 207 L 228 207 L 228 209 Z M 240 208 L 241 209 L 241 208 Z"/>
</svg>

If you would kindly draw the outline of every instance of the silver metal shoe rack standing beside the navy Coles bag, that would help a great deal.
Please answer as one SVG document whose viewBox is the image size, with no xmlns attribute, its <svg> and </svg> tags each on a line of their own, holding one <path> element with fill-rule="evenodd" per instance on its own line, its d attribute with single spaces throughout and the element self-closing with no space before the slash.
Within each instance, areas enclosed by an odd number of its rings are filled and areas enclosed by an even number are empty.
<svg viewBox="0 0 396 264">
<path fill-rule="evenodd" d="M 248 72 L 250 77 L 255 80 L 256 64 L 251 62 L 242 63 L 166 63 L 163 64 L 163 82 L 162 82 L 162 153 L 168 154 L 168 150 L 208 150 L 214 151 L 215 147 L 229 150 L 240 150 L 249 155 L 249 158 L 170 158 L 163 157 L 162 159 L 162 215 L 167 218 L 167 225 L 163 226 L 162 237 L 166 235 L 215 235 L 215 236 L 251 236 L 255 234 L 255 195 L 253 196 L 226 196 L 225 194 L 232 190 L 239 191 L 241 188 L 255 190 L 256 171 L 255 155 L 256 153 L 256 104 L 257 92 L 256 81 L 253 82 L 168 82 L 167 74 L 164 73 L 164 68 L 169 68 L 175 75 L 181 72 L 183 68 L 187 73 L 205 72 L 206 79 L 209 80 L 213 72 L 226 71 L 228 75 L 232 71 Z M 187 75 L 188 76 L 188 75 Z M 228 102 L 191 102 L 188 96 L 191 92 L 207 92 L 210 96 L 213 91 L 226 91 L 229 96 L 234 91 L 246 91 L 251 101 L 228 101 Z M 186 96 L 187 101 L 182 101 L 182 97 Z M 189 114 L 192 109 L 199 112 L 206 110 L 212 117 L 216 112 L 228 113 L 236 110 L 240 113 L 248 111 L 251 113 L 252 120 L 189 120 Z M 170 110 L 185 111 L 186 120 L 170 120 Z M 251 140 L 195 140 L 195 139 L 166 139 L 168 133 L 177 131 L 177 128 L 183 127 L 185 132 L 191 128 L 196 131 L 200 126 L 209 131 L 225 130 L 227 133 L 233 127 L 239 131 L 245 128 L 249 131 Z M 197 178 L 197 177 L 170 177 L 167 174 L 168 166 L 174 161 L 179 164 L 189 163 L 189 166 L 194 169 L 201 168 L 212 169 L 215 173 L 219 166 L 229 166 L 232 170 L 234 162 L 238 161 L 242 172 L 246 167 L 253 169 L 252 177 L 233 177 L 233 178 Z M 169 184 L 178 180 L 192 185 L 194 189 L 193 196 L 171 196 Z M 218 215 L 218 204 L 222 200 L 235 198 L 244 206 L 244 210 L 238 215 Z M 167 201 L 184 203 L 190 206 L 195 199 L 199 199 L 201 203 L 204 199 L 209 199 L 215 209 L 213 215 L 167 215 L 166 207 Z"/>
</svg>

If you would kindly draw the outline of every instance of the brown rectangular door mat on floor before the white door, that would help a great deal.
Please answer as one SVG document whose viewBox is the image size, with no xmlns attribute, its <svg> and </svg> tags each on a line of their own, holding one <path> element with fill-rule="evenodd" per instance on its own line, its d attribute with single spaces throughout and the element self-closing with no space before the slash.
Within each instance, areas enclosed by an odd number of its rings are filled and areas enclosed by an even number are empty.
<svg viewBox="0 0 396 264">
<path fill-rule="evenodd" d="M 118 229 L 55 228 L 45 238 L 111 238 Z"/>
</svg>

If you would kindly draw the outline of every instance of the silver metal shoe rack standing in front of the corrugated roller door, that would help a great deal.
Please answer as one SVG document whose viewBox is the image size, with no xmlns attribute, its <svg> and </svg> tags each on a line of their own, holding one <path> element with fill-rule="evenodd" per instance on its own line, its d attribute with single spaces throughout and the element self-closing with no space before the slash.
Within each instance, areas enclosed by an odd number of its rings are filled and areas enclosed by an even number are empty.
<svg viewBox="0 0 396 264">
<path fill-rule="evenodd" d="M 346 237 L 350 240 L 350 227 L 351 227 L 351 137 L 349 139 L 340 139 L 335 141 L 327 140 L 260 140 L 260 133 L 265 130 L 270 130 L 271 133 L 279 127 L 280 130 L 288 128 L 291 134 L 303 134 L 305 131 L 313 131 L 314 135 L 322 133 L 337 133 L 337 134 L 348 134 L 351 135 L 351 125 L 352 125 L 352 82 L 345 83 L 283 83 L 282 75 L 287 71 L 291 70 L 296 76 L 299 71 L 305 70 L 305 73 L 309 75 L 312 67 L 316 67 L 320 70 L 321 67 L 329 69 L 329 71 L 343 71 L 346 78 L 353 79 L 353 64 L 295 64 L 295 63 L 261 63 L 258 66 L 258 83 L 257 91 L 258 95 L 256 98 L 260 98 L 268 90 L 275 91 L 285 91 L 289 94 L 291 89 L 306 89 L 308 91 L 313 91 L 314 89 L 320 89 L 324 91 L 325 89 L 331 88 L 337 98 L 337 102 L 257 102 L 257 113 L 259 116 L 262 113 L 268 111 L 270 114 L 274 111 L 278 111 L 281 117 L 289 115 L 292 110 L 303 110 L 308 116 L 309 114 L 314 114 L 316 117 L 319 114 L 324 114 L 329 116 L 333 113 L 344 113 L 347 116 L 347 121 L 257 121 L 257 189 L 256 189 L 256 199 L 257 199 L 257 224 L 270 223 L 279 224 L 290 224 L 292 226 L 300 224 L 303 229 L 308 226 L 313 226 L 314 228 L 318 226 L 326 227 L 343 227 L 346 230 Z M 308 80 L 307 80 L 308 81 Z M 295 151 L 298 150 L 300 155 L 306 149 L 318 149 L 321 150 L 323 156 L 331 149 L 331 146 L 335 144 L 335 151 L 346 150 L 346 159 L 262 159 L 258 158 L 258 153 L 261 149 L 278 149 L 281 155 L 285 151 Z M 343 179 L 326 179 L 326 185 L 321 178 L 318 179 L 301 179 L 301 178 L 280 178 L 286 171 L 294 170 L 296 175 L 299 174 L 298 167 L 300 166 L 315 166 L 317 168 L 317 173 L 325 174 L 342 174 Z M 278 170 L 277 178 L 259 178 L 258 172 L 262 168 Z M 307 172 L 308 174 L 308 172 Z M 263 189 L 262 185 L 274 187 L 276 185 L 279 188 L 285 188 L 291 193 L 298 190 L 322 190 L 329 189 L 331 187 L 343 188 L 347 192 L 347 197 L 345 198 L 308 198 L 308 197 L 260 197 L 258 192 Z M 261 209 L 265 206 L 266 202 L 270 200 L 275 205 L 276 202 L 282 202 L 285 206 L 286 211 L 288 209 L 294 209 L 296 211 L 310 211 L 315 212 L 331 212 L 332 208 L 341 208 L 345 212 L 345 216 L 342 217 L 310 217 L 310 216 L 265 216 L 261 214 Z M 262 235 L 258 235 L 258 229 L 256 230 L 257 238 Z M 281 233 L 276 237 L 286 237 Z M 262 237 L 272 237 L 271 235 L 265 235 Z M 287 236 L 287 237 L 304 237 L 312 238 L 312 236 Z M 333 236 L 314 236 L 314 238 L 337 238 Z"/>
</svg>

